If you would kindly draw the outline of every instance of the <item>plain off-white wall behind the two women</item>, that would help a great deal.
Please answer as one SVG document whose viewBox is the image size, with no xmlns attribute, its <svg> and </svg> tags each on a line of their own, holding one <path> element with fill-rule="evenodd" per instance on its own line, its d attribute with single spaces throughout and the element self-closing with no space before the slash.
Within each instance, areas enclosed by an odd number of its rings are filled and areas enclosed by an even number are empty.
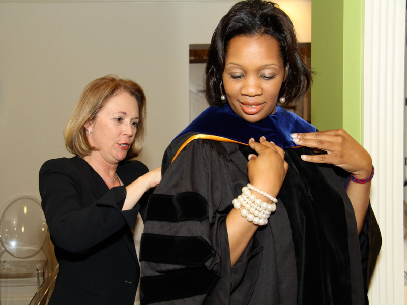
<svg viewBox="0 0 407 305">
<path fill-rule="evenodd" d="M 235 2 L 0 0 L 0 212 L 19 195 L 39 198 L 42 163 L 70 156 L 65 123 L 85 85 L 106 74 L 144 88 L 140 160 L 160 166 L 189 122 L 189 44 L 210 43 Z M 280 5 L 308 16 L 294 23 L 310 39 L 310 1 Z"/>
</svg>

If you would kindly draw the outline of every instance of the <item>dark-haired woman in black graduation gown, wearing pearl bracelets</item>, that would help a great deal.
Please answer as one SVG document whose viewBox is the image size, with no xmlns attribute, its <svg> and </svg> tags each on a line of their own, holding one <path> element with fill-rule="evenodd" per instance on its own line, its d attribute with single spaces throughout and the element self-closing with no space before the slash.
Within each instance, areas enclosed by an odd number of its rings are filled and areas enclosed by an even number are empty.
<svg viewBox="0 0 407 305">
<path fill-rule="evenodd" d="M 142 304 L 368 302 L 381 246 L 371 158 L 345 131 L 283 108 L 310 79 L 276 4 L 240 2 L 222 18 L 206 67 L 212 107 L 169 145 L 149 199 Z"/>
</svg>

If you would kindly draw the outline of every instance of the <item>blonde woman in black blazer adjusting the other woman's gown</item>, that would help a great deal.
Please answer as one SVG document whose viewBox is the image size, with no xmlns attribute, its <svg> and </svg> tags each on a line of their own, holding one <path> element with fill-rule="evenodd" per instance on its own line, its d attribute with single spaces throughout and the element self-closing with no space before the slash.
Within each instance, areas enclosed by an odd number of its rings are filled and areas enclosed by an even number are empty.
<svg viewBox="0 0 407 305">
<path fill-rule="evenodd" d="M 135 302 L 140 268 L 132 229 L 145 208 L 143 194 L 161 180 L 160 169 L 128 161 L 140 153 L 145 115 L 137 83 L 96 79 L 65 128 L 75 157 L 41 167 L 42 207 L 60 264 L 50 305 Z"/>
</svg>

